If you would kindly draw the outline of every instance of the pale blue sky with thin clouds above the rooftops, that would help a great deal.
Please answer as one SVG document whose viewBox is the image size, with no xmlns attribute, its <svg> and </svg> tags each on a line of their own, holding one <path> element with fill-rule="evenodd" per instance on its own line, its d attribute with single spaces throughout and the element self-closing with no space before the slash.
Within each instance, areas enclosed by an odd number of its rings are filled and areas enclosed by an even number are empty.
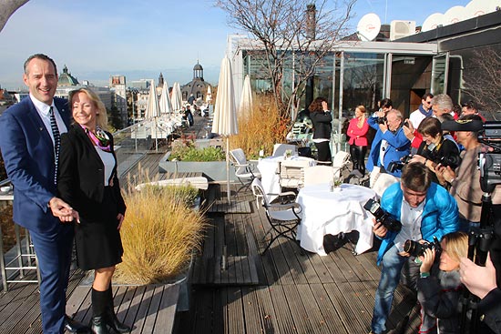
<svg viewBox="0 0 501 334">
<path fill-rule="evenodd" d="M 469 0 L 358 0 L 353 32 L 367 13 L 382 23 L 414 20 L 422 25 L 435 12 L 445 13 Z M 341 3 L 341 2 L 340 2 Z M 27 56 L 46 53 L 58 71 L 67 66 L 79 81 L 102 86 L 110 75 L 128 80 L 158 78 L 172 86 L 191 80 L 199 63 L 206 81 L 217 84 L 228 34 L 237 33 L 212 0 L 30 0 L 0 32 L 0 86 L 24 87 Z M 386 17 L 386 20 L 384 18 Z"/>
</svg>

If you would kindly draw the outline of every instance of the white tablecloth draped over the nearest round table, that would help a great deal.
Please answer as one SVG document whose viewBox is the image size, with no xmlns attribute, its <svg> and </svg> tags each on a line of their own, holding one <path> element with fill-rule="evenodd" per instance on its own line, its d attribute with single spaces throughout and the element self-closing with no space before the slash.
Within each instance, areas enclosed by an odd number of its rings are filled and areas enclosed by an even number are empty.
<svg viewBox="0 0 501 334">
<path fill-rule="evenodd" d="M 348 184 L 336 187 L 332 192 L 328 184 L 303 187 L 297 197 L 302 206 L 302 221 L 298 229 L 301 247 L 327 255 L 323 250 L 323 236 L 357 230 L 360 238 L 355 252 L 361 254 L 372 248 L 373 216 L 363 205 L 375 196 L 373 189 Z"/>
</svg>

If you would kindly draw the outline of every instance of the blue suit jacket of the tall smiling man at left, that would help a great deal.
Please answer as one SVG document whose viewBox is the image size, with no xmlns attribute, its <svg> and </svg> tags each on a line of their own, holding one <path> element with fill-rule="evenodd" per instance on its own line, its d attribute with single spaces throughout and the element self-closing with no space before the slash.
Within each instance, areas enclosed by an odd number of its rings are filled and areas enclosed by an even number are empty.
<svg viewBox="0 0 501 334">
<path fill-rule="evenodd" d="M 69 128 L 67 101 L 54 98 Z M 14 221 L 38 233 L 56 232 L 59 219 L 47 207 L 56 196 L 54 144 L 29 96 L 0 116 L 0 148 L 14 185 Z"/>
</svg>

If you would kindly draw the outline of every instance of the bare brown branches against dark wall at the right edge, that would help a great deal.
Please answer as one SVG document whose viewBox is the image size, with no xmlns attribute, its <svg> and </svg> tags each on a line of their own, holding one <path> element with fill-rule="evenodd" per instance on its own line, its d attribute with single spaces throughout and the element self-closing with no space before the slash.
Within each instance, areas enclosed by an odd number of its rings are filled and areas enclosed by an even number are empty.
<svg viewBox="0 0 501 334">
<path fill-rule="evenodd" d="M 501 111 L 501 55 L 494 48 L 475 51 L 465 76 L 465 92 L 495 119 Z"/>
</svg>

